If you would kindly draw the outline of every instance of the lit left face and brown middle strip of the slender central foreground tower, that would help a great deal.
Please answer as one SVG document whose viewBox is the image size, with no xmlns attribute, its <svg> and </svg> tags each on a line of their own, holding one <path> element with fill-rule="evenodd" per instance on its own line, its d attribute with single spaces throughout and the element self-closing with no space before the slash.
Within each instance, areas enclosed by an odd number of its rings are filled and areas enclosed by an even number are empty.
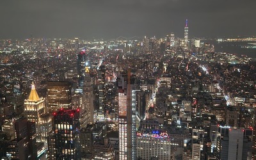
<svg viewBox="0 0 256 160">
<path fill-rule="evenodd" d="M 132 108 L 130 73 L 119 75 L 118 85 L 118 127 L 119 159 L 132 159 Z"/>
</svg>

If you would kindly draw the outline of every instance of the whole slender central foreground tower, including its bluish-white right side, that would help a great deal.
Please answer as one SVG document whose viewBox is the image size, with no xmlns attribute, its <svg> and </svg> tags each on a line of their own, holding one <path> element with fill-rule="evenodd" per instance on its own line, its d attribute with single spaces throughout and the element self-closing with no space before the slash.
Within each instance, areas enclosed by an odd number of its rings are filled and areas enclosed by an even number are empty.
<svg viewBox="0 0 256 160">
<path fill-rule="evenodd" d="M 136 91 L 132 92 L 129 74 L 117 79 L 119 159 L 136 159 Z"/>
</svg>

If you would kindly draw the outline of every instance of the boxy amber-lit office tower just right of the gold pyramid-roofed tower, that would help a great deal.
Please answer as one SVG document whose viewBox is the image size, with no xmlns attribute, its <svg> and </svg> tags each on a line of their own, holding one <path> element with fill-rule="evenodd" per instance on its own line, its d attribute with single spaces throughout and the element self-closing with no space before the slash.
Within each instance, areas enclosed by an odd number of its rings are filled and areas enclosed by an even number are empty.
<svg viewBox="0 0 256 160">
<path fill-rule="evenodd" d="M 71 83 L 67 81 L 49 81 L 47 83 L 47 101 L 49 113 L 61 108 L 71 109 Z"/>
</svg>

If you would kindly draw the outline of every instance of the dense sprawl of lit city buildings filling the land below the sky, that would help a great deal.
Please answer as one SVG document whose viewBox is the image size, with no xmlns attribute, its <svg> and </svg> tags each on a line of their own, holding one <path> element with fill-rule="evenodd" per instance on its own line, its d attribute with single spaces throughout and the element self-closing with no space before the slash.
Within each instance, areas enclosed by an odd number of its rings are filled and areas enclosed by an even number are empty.
<svg viewBox="0 0 256 160">
<path fill-rule="evenodd" d="M 0 40 L 1 159 L 255 158 L 255 61 L 188 31 Z"/>
</svg>

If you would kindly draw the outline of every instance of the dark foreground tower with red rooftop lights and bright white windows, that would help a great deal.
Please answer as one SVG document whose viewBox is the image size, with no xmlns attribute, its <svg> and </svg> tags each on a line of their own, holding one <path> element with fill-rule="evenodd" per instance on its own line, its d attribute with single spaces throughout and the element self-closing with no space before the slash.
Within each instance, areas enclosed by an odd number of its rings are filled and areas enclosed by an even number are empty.
<svg viewBox="0 0 256 160">
<path fill-rule="evenodd" d="M 79 109 L 53 113 L 56 159 L 81 159 Z"/>
</svg>

